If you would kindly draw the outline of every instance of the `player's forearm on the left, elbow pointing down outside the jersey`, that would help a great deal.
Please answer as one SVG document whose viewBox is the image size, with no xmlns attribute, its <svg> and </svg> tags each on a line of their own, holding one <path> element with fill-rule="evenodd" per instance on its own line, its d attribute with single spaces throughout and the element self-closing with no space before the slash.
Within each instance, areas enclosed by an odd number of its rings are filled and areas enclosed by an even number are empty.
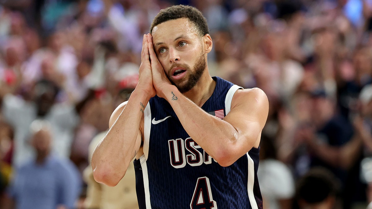
<svg viewBox="0 0 372 209">
<path fill-rule="evenodd" d="M 115 186 L 124 176 L 141 144 L 139 127 L 149 99 L 143 91 L 134 90 L 106 136 L 94 149 L 92 168 L 96 181 Z"/>
</svg>

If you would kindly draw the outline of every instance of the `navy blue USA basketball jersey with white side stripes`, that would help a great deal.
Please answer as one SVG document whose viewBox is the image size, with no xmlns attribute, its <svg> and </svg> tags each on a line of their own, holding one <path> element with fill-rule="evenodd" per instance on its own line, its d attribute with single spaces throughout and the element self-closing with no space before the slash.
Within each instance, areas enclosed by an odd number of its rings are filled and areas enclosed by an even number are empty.
<svg viewBox="0 0 372 209">
<path fill-rule="evenodd" d="M 213 79 L 215 90 L 202 109 L 223 119 L 241 87 Z M 134 161 L 140 209 L 262 208 L 259 149 L 222 167 L 190 138 L 165 99 L 151 98 L 144 114 L 144 155 Z"/>
</svg>

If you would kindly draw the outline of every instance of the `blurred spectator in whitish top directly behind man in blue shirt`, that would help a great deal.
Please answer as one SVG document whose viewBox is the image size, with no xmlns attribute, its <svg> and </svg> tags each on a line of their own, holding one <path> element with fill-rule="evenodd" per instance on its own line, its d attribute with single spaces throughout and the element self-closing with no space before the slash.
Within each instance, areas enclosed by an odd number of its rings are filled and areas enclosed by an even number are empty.
<svg viewBox="0 0 372 209">
<path fill-rule="evenodd" d="M 70 157 L 73 131 L 79 118 L 75 107 L 68 103 L 56 103 L 59 88 L 49 80 L 38 81 L 32 90 L 32 100 L 7 94 L 3 98 L 2 113 L 15 129 L 13 165 L 20 165 L 34 156 L 27 139 L 29 126 L 35 119 L 45 119 L 51 124 L 52 150 L 60 157 Z"/>
</svg>

